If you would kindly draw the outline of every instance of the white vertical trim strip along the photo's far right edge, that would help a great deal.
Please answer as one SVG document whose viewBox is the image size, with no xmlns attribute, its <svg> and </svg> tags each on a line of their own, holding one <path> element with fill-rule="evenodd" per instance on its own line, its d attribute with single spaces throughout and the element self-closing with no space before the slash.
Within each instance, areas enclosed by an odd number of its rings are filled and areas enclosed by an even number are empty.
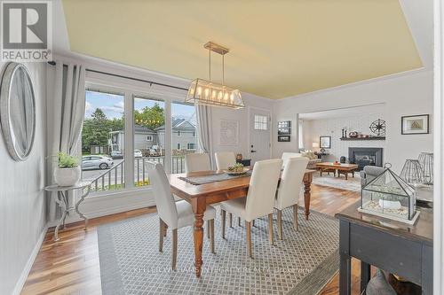
<svg viewBox="0 0 444 295">
<path fill-rule="evenodd" d="M 433 294 L 444 293 L 444 5 L 434 0 Z"/>
</svg>

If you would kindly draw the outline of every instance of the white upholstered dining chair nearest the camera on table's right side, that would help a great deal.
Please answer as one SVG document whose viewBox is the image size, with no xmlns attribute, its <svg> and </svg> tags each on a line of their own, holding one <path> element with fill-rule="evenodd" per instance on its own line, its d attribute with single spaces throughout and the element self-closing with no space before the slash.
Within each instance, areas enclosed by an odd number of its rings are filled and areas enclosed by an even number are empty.
<svg viewBox="0 0 444 295">
<path fill-rule="evenodd" d="M 247 253 L 253 258 L 251 222 L 268 215 L 268 240 L 274 245 L 274 198 L 281 174 L 282 159 L 266 159 L 255 163 L 247 198 L 234 198 L 220 203 L 222 209 L 222 237 L 225 238 L 226 212 L 240 216 L 247 230 Z"/>
</svg>

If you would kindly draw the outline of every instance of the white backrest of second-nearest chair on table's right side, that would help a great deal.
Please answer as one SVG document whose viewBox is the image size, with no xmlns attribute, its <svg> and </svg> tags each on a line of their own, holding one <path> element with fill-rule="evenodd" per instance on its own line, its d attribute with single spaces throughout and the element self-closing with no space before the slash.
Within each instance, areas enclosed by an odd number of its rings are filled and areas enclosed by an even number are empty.
<svg viewBox="0 0 444 295">
<path fill-rule="evenodd" d="M 275 204 L 277 209 L 282 210 L 297 205 L 307 164 L 308 158 L 306 157 L 289 158 L 287 160 L 277 192 Z"/>
</svg>

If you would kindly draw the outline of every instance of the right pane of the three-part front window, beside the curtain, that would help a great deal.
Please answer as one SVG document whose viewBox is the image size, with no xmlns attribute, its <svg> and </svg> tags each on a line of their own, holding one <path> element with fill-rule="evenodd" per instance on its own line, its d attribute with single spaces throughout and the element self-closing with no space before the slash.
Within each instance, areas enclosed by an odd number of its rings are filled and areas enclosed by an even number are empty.
<svg viewBox="0 0 444 295">
<path fill-rule="evenodd" d="M 184 173 L 185 155 L 195 152 L 197 145 L 194 105 L 172 103 L 171 127 L 171 172 Z"/>
</svg>

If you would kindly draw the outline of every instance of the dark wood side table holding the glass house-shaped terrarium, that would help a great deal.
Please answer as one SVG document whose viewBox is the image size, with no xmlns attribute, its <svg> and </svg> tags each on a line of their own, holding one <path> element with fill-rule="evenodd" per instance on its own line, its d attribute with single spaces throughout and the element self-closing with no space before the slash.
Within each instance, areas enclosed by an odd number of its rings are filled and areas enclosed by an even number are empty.
<svg viewBox="0 0 444 295">
<path fill-rule="evenodd" d="M 433 213 L 421 211 L 415 225 L 358 212 L 360 202 L 337 213 L 339 219 L 339 294 L 351 294 L 351 258 L 361 260 L 361 292 L 370 280 L 370 265 L 433 292 Z"/>
</svg>

